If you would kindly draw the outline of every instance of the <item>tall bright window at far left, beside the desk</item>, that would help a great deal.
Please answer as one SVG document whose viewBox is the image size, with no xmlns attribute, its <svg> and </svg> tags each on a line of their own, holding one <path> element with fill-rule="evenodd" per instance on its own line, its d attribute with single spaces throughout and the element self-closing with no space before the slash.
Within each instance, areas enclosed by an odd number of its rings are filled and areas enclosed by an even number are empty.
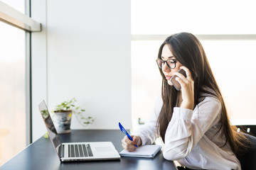
<svg viewBox="0 0 256 170">
<path fill-rule="evenodd" d="M 0 1 L 0 13 L 1 166 L 31 143 L 30 33 L 22 26 L 33 29 L 33 20 L 23 14 L 25 1 Z"/>
</svg>

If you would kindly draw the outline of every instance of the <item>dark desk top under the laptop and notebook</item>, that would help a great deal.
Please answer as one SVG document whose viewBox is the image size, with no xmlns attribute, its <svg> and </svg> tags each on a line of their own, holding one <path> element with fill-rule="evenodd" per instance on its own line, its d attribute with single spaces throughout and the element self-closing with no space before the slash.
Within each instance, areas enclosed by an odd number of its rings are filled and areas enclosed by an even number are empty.
<svg viewBox="0 0 256 170">
<path fill-rule="evenodd" d="M 70 134 L 60 135 L 62 142 L 113 142 L 118 152 L 122 151 L 121 140 L 124 134 L 120 130 L 72 130 Z M 0 167 L 0 169 L 176 169 L 173 162 L 164 159 L 162 152 L 149 158 L 122 157 L 113 161 L 65 162 L 60 163 L 50 139 L 41 137 L 29 145 L 16 157 Z"/>
</svg>

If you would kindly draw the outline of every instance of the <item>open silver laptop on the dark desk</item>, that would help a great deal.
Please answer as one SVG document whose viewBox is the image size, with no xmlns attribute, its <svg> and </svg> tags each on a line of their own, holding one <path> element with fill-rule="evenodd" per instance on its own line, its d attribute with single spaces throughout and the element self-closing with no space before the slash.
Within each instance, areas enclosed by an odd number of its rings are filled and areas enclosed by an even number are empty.
<svg viewBox="0 0 256 170">
<path fill-rule="evenodd" d="M 45 101 L 38 107 L 60 162 L 120 159 L 112 142 L 61 142 Z"/>
</svg>

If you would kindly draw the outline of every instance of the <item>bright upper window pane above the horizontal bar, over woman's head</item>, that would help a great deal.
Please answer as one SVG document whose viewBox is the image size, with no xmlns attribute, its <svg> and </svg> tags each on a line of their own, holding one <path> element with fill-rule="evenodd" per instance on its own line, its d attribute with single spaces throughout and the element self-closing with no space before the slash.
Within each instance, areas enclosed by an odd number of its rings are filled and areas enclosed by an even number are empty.
<svg viewBox="0 0 256 170">
<path fill-rule="evenodd" d="M 131 1 L 132 35 L 255 34 L 256 1 Z"/>
</svg>

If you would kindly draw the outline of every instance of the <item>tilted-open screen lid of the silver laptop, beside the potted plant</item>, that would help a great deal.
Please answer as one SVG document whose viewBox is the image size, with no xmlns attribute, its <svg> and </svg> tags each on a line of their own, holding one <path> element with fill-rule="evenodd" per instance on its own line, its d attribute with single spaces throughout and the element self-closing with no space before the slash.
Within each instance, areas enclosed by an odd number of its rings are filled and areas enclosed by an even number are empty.
<svg viewBox="0 0 256 170">
<path fill-rule="evenodd" d="M 42 101 L 38 107 L 39 107 L 39 111 L 41 112 L 41 115 L 43 117 L 43 121 L 46 124 L 46 128 L 47 128 L 48 134 L 50 136 L 50 140 L 53 142 L 55 151 L 58 153 L 58 147 L 60 147 L 60 144 L 61 144 L 60 137 L 57 133 L 57 130 L 54 127 L 53 120 L 50 118 L 50 114 L 48 112 L 48 108 L 46 106 L 45 101 Z"/>
</svg>

